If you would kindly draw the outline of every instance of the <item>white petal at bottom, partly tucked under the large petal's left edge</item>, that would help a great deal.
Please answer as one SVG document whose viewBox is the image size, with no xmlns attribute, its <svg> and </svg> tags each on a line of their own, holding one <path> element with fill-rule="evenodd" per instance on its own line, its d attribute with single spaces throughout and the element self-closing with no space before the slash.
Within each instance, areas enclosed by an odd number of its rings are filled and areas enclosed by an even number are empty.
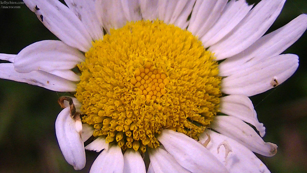
<svg viewBox="0 0 307 173">
<path fill-rule="evenodd" d="M 179 163 L 170 155 L 167 151 L 160 147 L 150 150 L 149 152 L 150 164 L 155 172 L 163 173 L 191 173 L 184 167 L 180 166 Z"/>
</svg>

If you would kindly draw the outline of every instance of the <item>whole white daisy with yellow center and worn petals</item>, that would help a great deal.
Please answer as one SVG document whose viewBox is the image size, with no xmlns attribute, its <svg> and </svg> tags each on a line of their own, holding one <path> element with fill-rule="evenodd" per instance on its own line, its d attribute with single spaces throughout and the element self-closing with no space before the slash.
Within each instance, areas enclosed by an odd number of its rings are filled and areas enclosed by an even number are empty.
<svg viewBox="0 0 307 173">
<path fill-rule="evenodd" d="M 248 97 L 296 71 L 297 55 L 282 52 L 306 14 L 264 35 L 285 0 L 24 2 L 61 41 L 0 54 L 11 62 L 0 78 L 73 92 L 55 127 L 76 170 L 93 150 L 90 172 L 144 173 L 146 152 L 148 173 L 270 172 L 253 152 L 277 145 Z"/>
</svg>

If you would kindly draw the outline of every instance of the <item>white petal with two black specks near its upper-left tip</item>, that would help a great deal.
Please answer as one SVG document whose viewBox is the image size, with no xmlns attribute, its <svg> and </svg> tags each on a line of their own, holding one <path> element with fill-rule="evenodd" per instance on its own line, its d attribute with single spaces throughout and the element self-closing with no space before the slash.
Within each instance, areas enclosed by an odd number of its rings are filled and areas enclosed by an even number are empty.
<svg viewBox="0 0 307 173">
<path fill-rule="evenodd" d="M 91 36 L 80 19 L 60 1 L 24 0 L 25 5 L 60 40 L 83 52 L 91 48 Z"/>
</svg>

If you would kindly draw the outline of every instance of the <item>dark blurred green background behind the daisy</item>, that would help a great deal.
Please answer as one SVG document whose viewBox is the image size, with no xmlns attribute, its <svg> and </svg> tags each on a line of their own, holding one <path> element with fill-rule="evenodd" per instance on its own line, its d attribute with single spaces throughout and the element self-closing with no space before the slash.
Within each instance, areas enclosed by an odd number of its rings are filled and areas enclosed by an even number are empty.
<svg viewBox="0 0 307 173">
<path fill-rule="evenodd" d="M 17 54 L 31 43 L 57 39 L 25 5 L 18 6 L 0 9 L 1 53 Z M 302 13 L 307 13 L 306 0 L 287 1 L 269 32 Z M 285 51 L 300 57 L 300 66 L 290 79 L 251 97 L 259 121 L 266 126 L 264 140 L 278 145 L 274 157 L 259 156 L 272 173 L 307 172 L 306 43 L 305 33 Z M 54 130 L 61 111 L 57 99 L 65 94 L 0 79 L 0 173 L 74 172 L 60 152 Z M 87 151 L 87 166 L 78 172 L 88 172 L 97 155 Z"/>
</svg>

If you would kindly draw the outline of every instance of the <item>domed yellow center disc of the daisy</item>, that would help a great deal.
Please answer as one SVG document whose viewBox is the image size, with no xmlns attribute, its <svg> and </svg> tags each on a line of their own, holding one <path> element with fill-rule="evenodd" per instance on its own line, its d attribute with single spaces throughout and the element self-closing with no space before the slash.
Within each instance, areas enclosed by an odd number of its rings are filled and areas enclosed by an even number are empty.
<svg viewBox="0 0 307 173">
<path fill-rule="evenodd" d="M 179 27 L 129 22 L 93 42 L 85 56 L 75 95 L 82 122 L 123 150 L 158 147 L 162 129 L 197 140 L 218 111 L 218 64 Z"/>
</svg>

